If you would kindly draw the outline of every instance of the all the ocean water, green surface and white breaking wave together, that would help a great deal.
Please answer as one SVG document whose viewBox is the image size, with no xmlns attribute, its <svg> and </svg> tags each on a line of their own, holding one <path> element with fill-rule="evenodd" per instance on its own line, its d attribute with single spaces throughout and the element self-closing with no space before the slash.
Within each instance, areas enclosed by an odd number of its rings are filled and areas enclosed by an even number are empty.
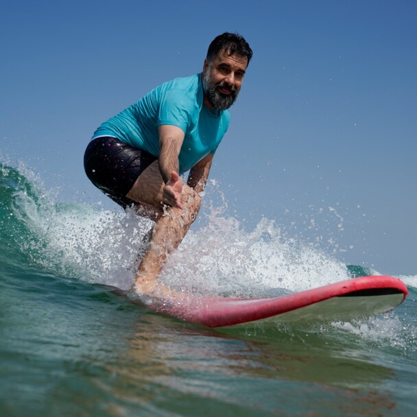
<svg viewBox="0 0 417 417">
<path fill-rule="evenodd" d="M 265 296 L 375 273 L 262 219 L 200 215 L 161 279 L 193 294 Z M 133 305 L 150 222 L 59 203 L 0 165 L 0 416 L 416 416 L 417 277 L 360 322 L 223 333 Z M 383 273 L 383 272 L 382 272 Z M 326 278 L 323 278 L 326 277 Z"/>
</svg>

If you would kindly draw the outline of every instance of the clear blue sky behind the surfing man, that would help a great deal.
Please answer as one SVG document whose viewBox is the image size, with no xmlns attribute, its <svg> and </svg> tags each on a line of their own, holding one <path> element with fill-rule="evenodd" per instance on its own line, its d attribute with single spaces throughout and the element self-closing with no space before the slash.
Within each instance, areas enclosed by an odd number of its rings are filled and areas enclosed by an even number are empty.
<svg viewBox="0 0 417 417">
<path fill-rule="evenodd" d="M 254 57 L 211 171 L 228 215 L 415 275 L 416 21 L 414 0 L 2 1 L 2 158 L 114 208 L 82 168 L 95 128 L 239 32 Z"/>
</svg>

